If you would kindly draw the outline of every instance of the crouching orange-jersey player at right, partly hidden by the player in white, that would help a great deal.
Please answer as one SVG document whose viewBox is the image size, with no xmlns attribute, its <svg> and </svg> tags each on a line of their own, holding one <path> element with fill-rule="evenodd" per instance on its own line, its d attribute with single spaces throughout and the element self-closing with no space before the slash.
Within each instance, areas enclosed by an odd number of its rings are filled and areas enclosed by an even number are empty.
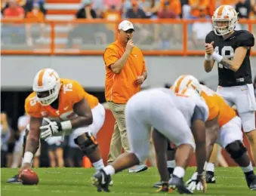
<svg viewBox="0 0 256 196">
<path fill-rule="evenodd" d="M 181 75 L 175 81 L 173 89 L 176 93 L 185 93 L 187 89 L 196 90 L 208 105 L 209 116 L 211 116 L 212 112 L 210 107 L 212 103 L 219 107 L 219 115 L 217 118 L 219 131 L 216 142 L 226 149 L 231 158 L 241 167 L 242 171 L 245 173 L 248 188 L 256 190 L 256 176 L 254 175 L 247 149 L 242 144 L 242 122 L 236 115 L 236 112 L 213 90 L 202 84 L 198 87 L 197 79 L 192 75 Z M 211 137 L 211 135 L 207 133 L 206 138 Z M 202 190 L 202 184 L 198 182 L 196 176 L 197 173 L 194 173 L 187 184 L 191 190 Z"/>
</svg>

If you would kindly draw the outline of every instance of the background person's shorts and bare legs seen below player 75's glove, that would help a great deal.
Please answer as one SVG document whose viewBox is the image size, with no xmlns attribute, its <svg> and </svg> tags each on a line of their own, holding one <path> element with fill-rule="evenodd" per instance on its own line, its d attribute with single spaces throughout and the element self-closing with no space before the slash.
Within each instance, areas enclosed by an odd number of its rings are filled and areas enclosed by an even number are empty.
<svg viewBox="0 0 256 196">
<path fill-rule="evenodd" d="M 45 139 L 45 142 L 48 143 L 50 167 L 64 167 L 61 136 L 52 136 Z"/>
</svg>

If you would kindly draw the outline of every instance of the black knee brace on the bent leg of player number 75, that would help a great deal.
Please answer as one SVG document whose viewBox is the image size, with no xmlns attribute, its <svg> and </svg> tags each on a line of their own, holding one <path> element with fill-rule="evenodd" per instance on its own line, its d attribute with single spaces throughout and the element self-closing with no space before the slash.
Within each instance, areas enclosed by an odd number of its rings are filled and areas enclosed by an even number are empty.
<svg viewBox="0 0 256 196">
<path fill-rule="evenodd" d="M 94 152 L 94 149 L 96 149 L 98 145 L 94 136 L 88 132 L 85 133 L 85 138 L 82 142 L 79 142 L 78 138 L 74 139 L 74 142 L 76 143 L 76 145 L 79 145 L 79 148 L 82 150 L 82 152 L 85 153 L 85 155 Z"/>
</svg>

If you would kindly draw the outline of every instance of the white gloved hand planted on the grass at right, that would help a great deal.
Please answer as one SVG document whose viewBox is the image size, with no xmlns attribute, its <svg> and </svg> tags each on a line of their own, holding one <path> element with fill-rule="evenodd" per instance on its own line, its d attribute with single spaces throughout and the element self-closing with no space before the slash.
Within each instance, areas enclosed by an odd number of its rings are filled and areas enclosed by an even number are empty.
<svg viewBox="0 0 256 196">
<path fill-rule="evenodd" d="M 186 183 L 191 191 L 203 191 L 203 193 L 207 191 L 207 184 L 205 181 L 204 173 L 193 173 L 191 179 L 189 179 Z"/>
</svg>

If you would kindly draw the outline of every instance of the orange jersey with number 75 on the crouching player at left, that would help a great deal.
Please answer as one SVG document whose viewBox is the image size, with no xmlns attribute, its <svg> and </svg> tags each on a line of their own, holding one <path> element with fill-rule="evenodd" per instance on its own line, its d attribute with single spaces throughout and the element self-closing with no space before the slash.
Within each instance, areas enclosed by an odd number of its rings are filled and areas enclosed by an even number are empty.
<svg viewBox="0 0 256 196">
<path fill-rule="evenodd" d="M 93 109 L 99 103 L 97 97 L 85 92 L 84 88 L 77 81 L 60 79 L 61 87 L 59 92 L 59 107 L 53 109 L 51 106 L 42 106 L 38 101 L 35 92 L 30 93 L 25 101 L 25 111 L 35 118 L 54 118 L 66 121 L 74 117 L 73 106 L 85 99 Z"/>
</svg>

